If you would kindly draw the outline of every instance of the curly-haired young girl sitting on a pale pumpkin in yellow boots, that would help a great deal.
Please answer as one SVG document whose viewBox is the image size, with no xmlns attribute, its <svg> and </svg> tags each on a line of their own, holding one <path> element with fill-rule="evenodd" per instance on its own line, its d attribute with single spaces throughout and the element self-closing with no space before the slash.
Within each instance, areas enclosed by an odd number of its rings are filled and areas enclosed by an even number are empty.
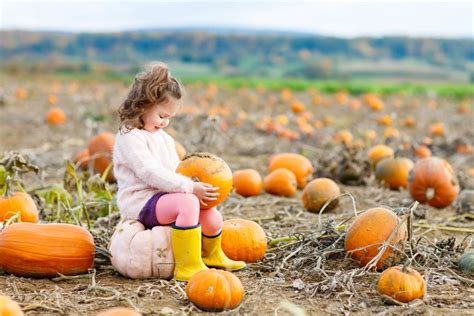
<svg viewBox="0 0 474 316">
<path fill-rule="evenodd" d="M 166 64 L 153 63 L 135 77 L 119 109 L 113 166 L 122 217 L 147 228 L 172 224 L 174 275 L 187 281 L 206 265 L 235 271 L 245 263 L 222 251 L 222 216 L 216 208 L 200 210 L 200 204 L 216 199 L 218 188 L 175 172 L 180 161 L 164 128 L 178 112 L 182 94 Z"/>
</svg>

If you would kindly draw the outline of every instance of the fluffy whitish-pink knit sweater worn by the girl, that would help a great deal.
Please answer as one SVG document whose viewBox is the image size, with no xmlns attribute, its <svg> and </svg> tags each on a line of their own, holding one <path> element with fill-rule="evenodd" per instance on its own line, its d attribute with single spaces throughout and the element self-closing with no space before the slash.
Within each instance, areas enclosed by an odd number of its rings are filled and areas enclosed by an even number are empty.
<svg viewBox="0 0 474 316">
<path fill-rule="evenodd" d="M 117 133 L 113 152 L 117 204 L 123 218 L 137 219 L 157 192 L 193 192 L 193 181 L 175 172 L 179 164 L 173 138 L 164 130 Z"/>
</svg>

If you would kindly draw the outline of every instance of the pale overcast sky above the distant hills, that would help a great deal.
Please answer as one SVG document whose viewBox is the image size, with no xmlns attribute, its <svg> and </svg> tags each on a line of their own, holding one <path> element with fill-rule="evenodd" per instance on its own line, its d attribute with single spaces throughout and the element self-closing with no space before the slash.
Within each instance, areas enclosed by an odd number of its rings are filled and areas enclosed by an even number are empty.
<svg viewBox="0 0 474 316">
<path fill-rule="evenodd" d="M 474 37 L 474 1 L 0 0 L 0 28 L 109 32 L 232 27 L 323 35 Z"/>
</svg>

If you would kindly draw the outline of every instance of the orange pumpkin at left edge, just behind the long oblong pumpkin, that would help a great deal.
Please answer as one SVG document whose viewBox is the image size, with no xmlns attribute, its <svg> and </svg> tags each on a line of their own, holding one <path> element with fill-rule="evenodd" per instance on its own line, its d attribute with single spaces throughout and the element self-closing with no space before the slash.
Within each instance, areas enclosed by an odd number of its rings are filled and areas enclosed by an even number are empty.
<svg viewBox="0 0 474 316">
<path fill-rule="evenodd" d="M 29 194 L 16 192 L 10 197 L 0 197 L 0 222 L 14 216 L 18 211 L 21 213 L 22 222 L 38 222 L 38 209 Z"/>
</svg>

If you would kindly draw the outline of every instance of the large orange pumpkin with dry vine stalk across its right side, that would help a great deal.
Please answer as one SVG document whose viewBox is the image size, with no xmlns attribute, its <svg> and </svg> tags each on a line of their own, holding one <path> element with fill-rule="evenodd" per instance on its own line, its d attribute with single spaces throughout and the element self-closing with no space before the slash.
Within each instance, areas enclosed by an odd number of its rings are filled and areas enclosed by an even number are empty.
<svg viewBox="0 0 474 316">
<path fill-rule="evenodd" d="M 392 266 L 399 260 L 400 255 L 393 248 L 403 252 L 407 237 L 406 226 L 402 225 L 394 233 L 392 239 L 388 240 L 399 222 L 398 216 L 386 208 L 376 207 L 367 210 L 357 216 L 349 227 L 344 243 L 346 252 L 350 253 L 352 259 L 360 266 L 365 266 L 377 256 L 382 244 L 388 242 L 391 247 L 385 249 L 376 267 L 380 269 Z"/>
</svg>

